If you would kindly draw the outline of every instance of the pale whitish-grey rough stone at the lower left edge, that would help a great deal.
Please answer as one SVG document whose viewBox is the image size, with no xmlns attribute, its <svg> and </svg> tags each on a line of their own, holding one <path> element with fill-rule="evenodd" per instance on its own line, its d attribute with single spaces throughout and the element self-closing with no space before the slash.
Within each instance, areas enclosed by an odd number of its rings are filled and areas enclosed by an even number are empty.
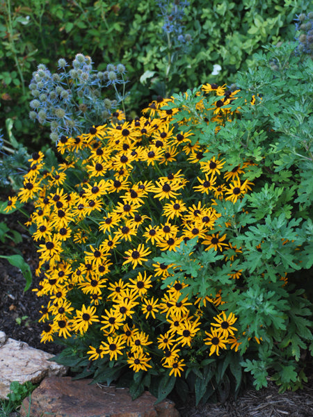
<svg viewBox="0 0 313 417">
<path fill-rule="evenodd" d="M 3 333 L 3 332 L 1 332 Z M 10 383 L 29 381 L 36 384 L 51 375 L 65 375 L 67 368 L 54 361 L 53 354 L 30 347 L 27 343 L 12 338 L 1 339 L 0 345 L 0 399 L 4 400 L 10 393 Z"/>
</svg>

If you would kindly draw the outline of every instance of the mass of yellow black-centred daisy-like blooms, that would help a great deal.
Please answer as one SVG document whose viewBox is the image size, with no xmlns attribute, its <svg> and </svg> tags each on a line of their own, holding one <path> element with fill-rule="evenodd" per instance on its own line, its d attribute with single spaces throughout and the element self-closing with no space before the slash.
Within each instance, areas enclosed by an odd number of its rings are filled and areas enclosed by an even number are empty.
<svg viewBox="0 0 313 417">
<path fill-rule="evenodd" d="M 232 120 L 227 105 L 236 94 L 203 85 L 196 108 L 207 112 L 213 97 L 207 124 L 218 131 Z M 172 265 L 154 258 L 198 239 L 204 251 L 234 259 L 241 248 L 220 234 L 216 202 L 236 203 L 252 183 L 241 179 L 250 161 L 225 170 L 188 123 L 172 122 L 186 109 L 171 103 L 160 98 L 131 122 L 62 136 L 63 162 L 49 167 L 42 152 L 33 154 L 18 197 L 35 206 L 27 222 L 43 275 L 35 292 L 49 296 L 40 310 L 42 342 L 80 339 L 92 361 L 176 377 L 198 356 L 238 350 L 237 318 L 223 309 L 220 291 L 187 297 L 176 279 L 164 290 Z M 235 268 L 230 279 L 240 275 Z"/>
</svg>

